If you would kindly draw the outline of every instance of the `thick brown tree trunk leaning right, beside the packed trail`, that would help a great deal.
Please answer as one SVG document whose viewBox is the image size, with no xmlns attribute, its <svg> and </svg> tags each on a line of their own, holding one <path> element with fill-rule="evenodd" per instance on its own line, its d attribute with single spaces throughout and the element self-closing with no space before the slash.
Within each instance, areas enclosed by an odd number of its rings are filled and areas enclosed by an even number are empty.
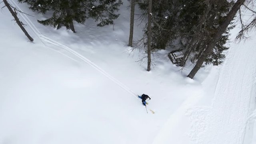
<svg viewBox="0 0 256 144">
<path fill-rule="evenodd" d="M 218 28 L 218 31 L 216 34 L 214 34 L 212 41 L 209 43 L 209 45 L 206 47 L 206 50 L 204 50 L 202 56 L 198 59 L 196 62 L 196 65 L 191 70 L 191 72 L 188 74 L 189 78 L 194 78 L 198 70 L 202 67 L 202 64 L 206 60 L 207 56 L 210 54 L 212 49 L 214 48 L 215 44 L 218 42 L 222 34 L 226 31 L 226 28 L 230 24 L 230 22 L 234 19 L 234 16 L 236 16 L 236 12 L 239 10 L 240 6 L 244 3 L 245 0 L 237 0 L 230 12 L 228 13 L 226 19 L 224 22 L 220 25 Z"/>
</svg>

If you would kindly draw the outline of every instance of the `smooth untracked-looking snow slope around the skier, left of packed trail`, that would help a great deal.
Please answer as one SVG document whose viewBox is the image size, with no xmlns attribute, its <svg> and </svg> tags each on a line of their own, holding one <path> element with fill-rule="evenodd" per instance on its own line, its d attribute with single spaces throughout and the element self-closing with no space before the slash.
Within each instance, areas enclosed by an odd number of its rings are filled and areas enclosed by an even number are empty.
<svg viewBox="0 0 256 144">
<path fill-rule="evenodd" d="M 30 12 L 24 5 L 18 6 Z M 170 65 L 167 57 L 153 72 L 146 72 L 145 64 L 140 67 L 121 41 L 127 31 L 120 28 L 122 24 L 113 31 L 112 26 L 90 28 L 89 21 L 89 26 L 76 25 L 76 35 L 65 28 L 41 26 L 33 17 L 19 16 L 28 24 L 26 29 L 35 43 L 28 42 L 3 9 L 3 143 L 151 143 L 166 118 L 199 90 L 199 83 L 189 84 L 186 77 L 176 74 L 178 68 Z M 84 29 L 90 35 L 83 33 Z M 165 54 L 162 51 L 159 55 Z M 187 88 L 179 88 L 185 84 Z M 149 94 L 149 107 L 156 113 L 147 114 L 134 93 Z"/>
</svg>

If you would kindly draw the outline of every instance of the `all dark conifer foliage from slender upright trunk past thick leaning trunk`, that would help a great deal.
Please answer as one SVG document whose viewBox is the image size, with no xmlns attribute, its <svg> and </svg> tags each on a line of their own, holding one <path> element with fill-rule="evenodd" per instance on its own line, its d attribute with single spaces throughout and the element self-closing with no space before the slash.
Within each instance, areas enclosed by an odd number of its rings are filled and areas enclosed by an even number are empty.
<svg viewBox="0 0 256 144">
<path fill-rule="evenodd" d="M 148 0 L 138 0 L 142 18 L 147 17 Z M 202 55 L 234 2 L 226 0 L 156 0 L 152 7 L 152 50 L 165 49 L 182 41 L 186 57 L 194 63 Z M 228 32 L 220 38 L 205 64 L 218 65 L 228 49 Z M 147 34 L 147 26 L 144 30 Z M 185 59 L 187 60 L 187 59 Z M 186 62 L 186 61 L 185 61 Z"/>
</svg>

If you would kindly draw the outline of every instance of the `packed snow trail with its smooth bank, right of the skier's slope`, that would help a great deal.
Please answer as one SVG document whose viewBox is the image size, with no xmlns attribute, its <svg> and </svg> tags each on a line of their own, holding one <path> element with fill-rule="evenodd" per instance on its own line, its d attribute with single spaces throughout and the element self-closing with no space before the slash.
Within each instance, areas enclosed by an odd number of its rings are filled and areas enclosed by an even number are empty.
<svg viewBox="0 0 256 144">
<path fill-rule="evenodd" d="M 231 44 L 220 70 L 209 74 L 205 82 L 213 98 L 208 92 L 188 98 L 162 126 L 153 144 L 254 144 L 250 141 L 256 120 L 255 45 L 252 40 Z M 211 103 L 204 97 L 212 98 Z"/>
</svg>

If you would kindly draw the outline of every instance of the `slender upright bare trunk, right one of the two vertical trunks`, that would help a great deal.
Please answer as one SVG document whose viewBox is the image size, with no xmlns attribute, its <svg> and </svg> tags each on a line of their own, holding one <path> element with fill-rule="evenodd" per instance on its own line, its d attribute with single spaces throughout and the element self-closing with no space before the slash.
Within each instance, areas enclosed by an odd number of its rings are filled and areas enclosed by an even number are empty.
<svg viewBox="0 0 256 144">
<path fill-rule="evenodd" d="M 148 0 L 148 71 L 151 65 L 151 17 L 152 17 L 152 0 Z"/>
</svg>

